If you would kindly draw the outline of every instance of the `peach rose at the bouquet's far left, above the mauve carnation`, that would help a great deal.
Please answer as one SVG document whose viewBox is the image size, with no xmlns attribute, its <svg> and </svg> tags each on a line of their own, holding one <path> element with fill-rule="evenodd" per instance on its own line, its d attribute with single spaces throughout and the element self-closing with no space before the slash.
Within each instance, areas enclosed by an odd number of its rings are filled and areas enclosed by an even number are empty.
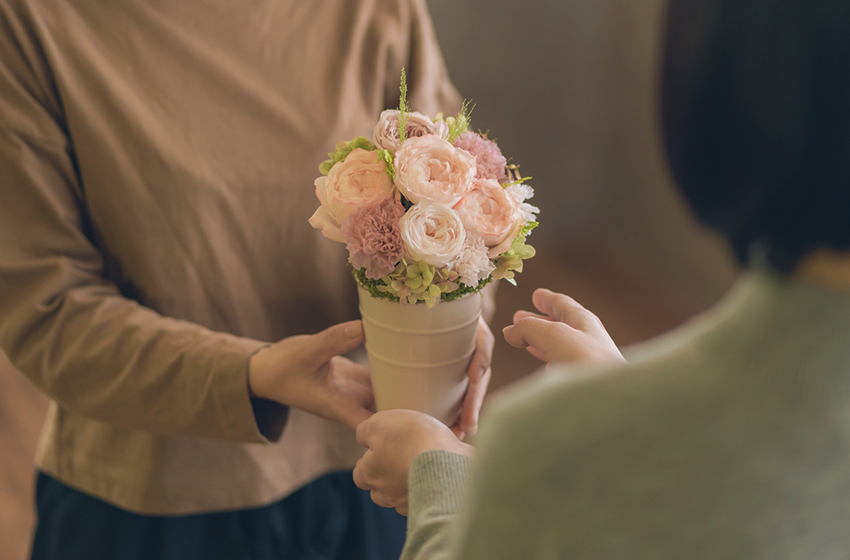
<svg viewBox="0 0 850 560">
<path fill-rule="evenodd" d="M 345 243 L 340 224 L 359 208 L 392 198 L 395 187 L 387 174 L 384 160 L 377 152 L 352 150 L 331 168 L 327 177 L 316 179 L 316 196 L 322 205 L 310 218 L 310 225 L 321 229 L 328 239 Z"/>
</svg>

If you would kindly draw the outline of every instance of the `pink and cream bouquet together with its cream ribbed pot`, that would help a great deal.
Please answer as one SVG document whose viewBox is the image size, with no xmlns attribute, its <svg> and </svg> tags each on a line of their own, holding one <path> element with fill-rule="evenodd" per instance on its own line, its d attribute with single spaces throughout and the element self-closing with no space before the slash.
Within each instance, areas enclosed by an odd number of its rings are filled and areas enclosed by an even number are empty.
<svg viewBox="0 0 850 560">
<path fill-rule="evenodd" d="M 514 283 L 534 256 L 526 238 L 539 212 L 528 178 L 469 130 L 469 113 L 468 103 L 456 117 L 411 112 L 402 72 L 398 110 L 319 166 L 310 218 L 348 249 L 378 410 L 419 410 L 449 426 L 475 350 L 475 294 Z"/>
</svg>

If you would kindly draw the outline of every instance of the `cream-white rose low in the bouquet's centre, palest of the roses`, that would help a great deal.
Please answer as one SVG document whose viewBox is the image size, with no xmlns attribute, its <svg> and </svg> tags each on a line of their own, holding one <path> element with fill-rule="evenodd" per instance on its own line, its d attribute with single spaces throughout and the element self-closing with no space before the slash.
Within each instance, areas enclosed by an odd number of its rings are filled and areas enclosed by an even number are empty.
<svg viewBox="0 0 850 560">
<path fill-rule="evenodd" d="M 405 253 L 413 261 L 444 267 L 463 251 L 466 230 L 460 216 L 445 204 L 422 202 L 401 217 Z"/>
</svg>

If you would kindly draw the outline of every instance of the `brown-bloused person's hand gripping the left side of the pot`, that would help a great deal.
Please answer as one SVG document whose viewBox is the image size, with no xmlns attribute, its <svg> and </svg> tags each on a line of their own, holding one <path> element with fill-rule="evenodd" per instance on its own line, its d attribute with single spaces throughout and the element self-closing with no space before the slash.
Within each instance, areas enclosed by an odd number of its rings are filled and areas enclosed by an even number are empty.
<svg viewBox="0 0 850 560">
<path fill-rule="evenodd" d="M 300 408 L 355 429 L 374 409 L 369 370 L 343 358 L 363 343 L 360 321 L 285 338 L 251 358 L 251 396 Z"/>
</svg>

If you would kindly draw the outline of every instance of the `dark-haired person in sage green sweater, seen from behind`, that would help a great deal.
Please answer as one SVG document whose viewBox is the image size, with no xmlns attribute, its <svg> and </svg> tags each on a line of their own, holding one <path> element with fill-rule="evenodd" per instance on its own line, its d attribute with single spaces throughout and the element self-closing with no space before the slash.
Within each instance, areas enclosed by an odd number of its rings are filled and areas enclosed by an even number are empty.
<svg viewBox="0 0 850 560">
<path fill-rule="evenodd" d="M 409 516 L 404 560 L 850 558 L 848 30 L 846 2 L 670 2 L 668 159 L 745 272 L 629 363 L 535 292 L 505 337 L 550 367 L 477 451 L 415 412 L 360 424 L 354 479 Z"/>
</svg>

